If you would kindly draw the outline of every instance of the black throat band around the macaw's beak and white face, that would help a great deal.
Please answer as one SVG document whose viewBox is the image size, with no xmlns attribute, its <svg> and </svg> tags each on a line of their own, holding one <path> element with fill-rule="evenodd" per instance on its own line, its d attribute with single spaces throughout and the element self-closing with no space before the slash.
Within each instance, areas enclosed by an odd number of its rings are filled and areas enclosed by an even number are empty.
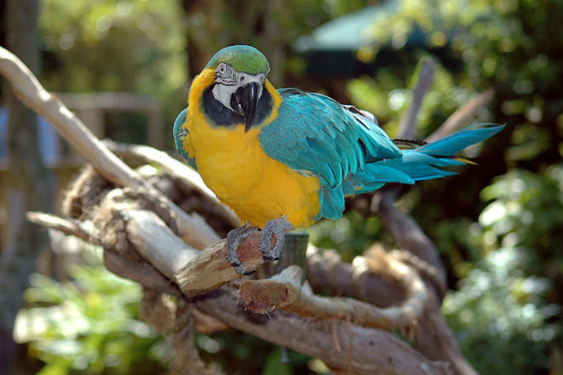
<svg viewBox="0 0 563 375">
<path fill-rule="evenodd" d="M 205 89 L 203 96 L 201 96 L 201 110 L 205 113 L 205 117 L 217 127 L 234 127 L 243 124 L 243 116 L 223 106 L 223 103 L 213 96 L 213 87 L 215 87 L 215 84 Z M 258 100 L 258 107 L 256 108 L 252 127 L 262 124 L 270 113 L 272 113 L 272 96 L 267 89 L 264 88 L 262 90 L 262 96 L 260 96 Z"/>
</svg>

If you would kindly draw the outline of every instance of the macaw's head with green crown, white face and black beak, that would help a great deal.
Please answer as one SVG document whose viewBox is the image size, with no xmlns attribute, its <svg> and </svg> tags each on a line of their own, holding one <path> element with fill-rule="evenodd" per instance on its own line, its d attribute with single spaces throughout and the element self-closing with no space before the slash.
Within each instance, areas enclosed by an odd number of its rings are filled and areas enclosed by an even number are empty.
<svg viewBox="0 0 563 375">
<path fill-rule="evenodd" d="M 205 68 L 215 70 L 215 99 L 243 116 L 248 132 L 270 72 L 266 56 L 251 46 L 229 46 L 215 53 Z"/>
</svg>

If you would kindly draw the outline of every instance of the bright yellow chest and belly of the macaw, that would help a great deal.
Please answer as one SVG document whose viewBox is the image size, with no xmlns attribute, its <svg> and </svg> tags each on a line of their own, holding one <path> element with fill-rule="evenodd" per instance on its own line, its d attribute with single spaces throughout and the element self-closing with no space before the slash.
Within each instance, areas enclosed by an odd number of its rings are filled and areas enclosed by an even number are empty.
<svg viewBox="0 0 563 375">
<path fill-rule="evenodd" d="M 190 106 L 191 146 L 205 184 L 242 222 L 263 227 L 286 215 L 294 227 L 307 227 L 320 210 L 319 180 L 305 177 L 270 158 L 260 147 L 259 129 L 212 127 Z"/>
</svg>

